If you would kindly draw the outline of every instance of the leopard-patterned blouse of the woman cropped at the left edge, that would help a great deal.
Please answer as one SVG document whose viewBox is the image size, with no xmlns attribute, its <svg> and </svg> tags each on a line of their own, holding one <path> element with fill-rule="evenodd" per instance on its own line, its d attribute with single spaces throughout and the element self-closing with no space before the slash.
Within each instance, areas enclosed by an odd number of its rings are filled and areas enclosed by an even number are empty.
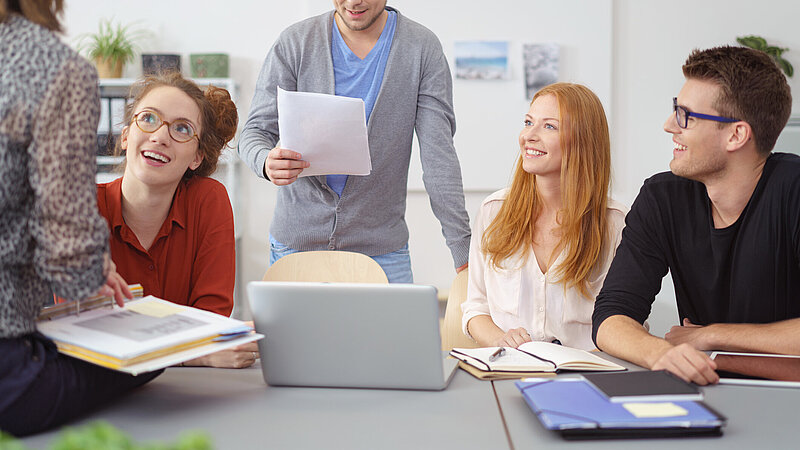
<svg viewBox="0 0 800 450">
<path fill-rule="evenodd" d="M 99 115 L 86 60 L 21 16 L 0 23 L 0 338 L 34 332 L 53 293 L 81 298 L 104 283 Z"/>
</svg>

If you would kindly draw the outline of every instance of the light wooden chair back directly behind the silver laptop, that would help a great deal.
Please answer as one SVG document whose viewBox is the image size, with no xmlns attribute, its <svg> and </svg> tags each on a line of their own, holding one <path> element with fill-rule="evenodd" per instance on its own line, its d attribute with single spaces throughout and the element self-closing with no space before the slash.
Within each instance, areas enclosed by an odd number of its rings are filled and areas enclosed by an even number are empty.
<svg viewBox="0 0 800 450">
<path fill-rule="evenodd" d="M 298 252 L 267 269 L 263 281 L 388 283 L 386 274 L 367 255 L 344 251 Z"/>
</svg>

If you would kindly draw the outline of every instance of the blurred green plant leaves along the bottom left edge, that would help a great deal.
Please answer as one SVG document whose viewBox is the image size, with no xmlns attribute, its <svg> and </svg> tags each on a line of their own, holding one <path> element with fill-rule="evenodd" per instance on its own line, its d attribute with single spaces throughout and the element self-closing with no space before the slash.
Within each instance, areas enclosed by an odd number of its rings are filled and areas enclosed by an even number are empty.
<svg viewBox="0 0 800 450">
<path fill-rule="evenodd" d="M 81 427 L 65 427 L 50 444 L 51 450 L 211 450 L 211 439 L 205 433 L 182 433 L 172 444 L 137 444 L 108 422 L 92 422 Z M 0 450 L 25 450 L 21 441 L 0 431 Z"/>
</svg>

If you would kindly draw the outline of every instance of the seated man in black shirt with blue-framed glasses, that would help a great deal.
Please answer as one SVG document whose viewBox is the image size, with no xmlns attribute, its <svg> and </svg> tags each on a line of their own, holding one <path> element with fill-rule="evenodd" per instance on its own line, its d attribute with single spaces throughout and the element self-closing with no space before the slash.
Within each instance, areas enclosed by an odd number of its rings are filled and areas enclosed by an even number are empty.
<svg viewBox="0 0 800 450">
<path fill-rule="evenodd" d="M 703 351 L 800 354 L 800 157 L 772 153 L 786 78 L 763 52 L 695 50 L 672 100 L 670 171 L 645 181 L 597 297 L 598 348 L 698 384 Z M 669 271 L 682 324 L 641 325 Z"/>
</svg>

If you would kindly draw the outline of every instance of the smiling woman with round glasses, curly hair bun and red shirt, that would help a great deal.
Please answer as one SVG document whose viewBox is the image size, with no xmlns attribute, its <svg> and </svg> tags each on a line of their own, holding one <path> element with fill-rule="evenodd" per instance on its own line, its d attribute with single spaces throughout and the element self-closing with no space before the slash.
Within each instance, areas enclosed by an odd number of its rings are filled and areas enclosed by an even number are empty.
<svg viewBox="0 0 800 450">
<path fill-rule="evenodd" d="M 209 178 L 236 133 L 225 89 L 203 91 L 178 73 L 134 85 L 117 143 L 122 178 L 97 190 L 117 271 L 146 295 L 223 315 L 233 310 L 233 211 L 225 187 Z M 246 367 L 255 344 L 186 365 Z"/>
</svg>

